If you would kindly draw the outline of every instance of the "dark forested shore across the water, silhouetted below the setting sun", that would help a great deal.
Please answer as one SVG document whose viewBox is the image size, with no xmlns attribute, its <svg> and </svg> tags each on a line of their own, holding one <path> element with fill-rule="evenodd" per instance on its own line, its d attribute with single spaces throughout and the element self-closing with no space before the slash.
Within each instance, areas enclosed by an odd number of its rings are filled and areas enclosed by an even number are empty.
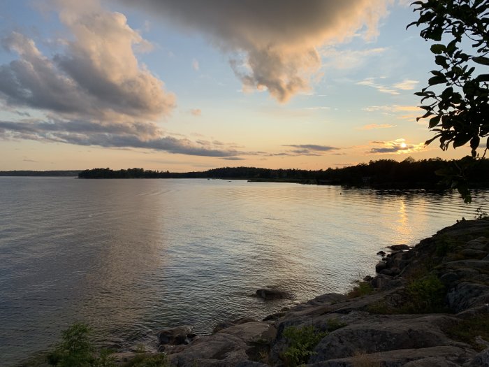
<svg viewBox="0 0 489 367">
<path fill-rule="evenodd" d="M 94 168 L 81 171 L 79 178 L 210 178 L 251 181 L 300 182 L 316 185 L 351 185 L 379 188 L 442 188 L 439 183 L 445 172 L 456 171 L 461 160 L 441 158 L 416 161 L 380 159 L 343 168 L 308 171 L 300 169 L 270 169 L 254 167 L 224 167 L 202 172 L 173 173 L 129 168 L 118 171 Z M 489 161 L 476 161 L 472 170 L 464 173 L 472 187 L 489 187 Z"/>
</svg>

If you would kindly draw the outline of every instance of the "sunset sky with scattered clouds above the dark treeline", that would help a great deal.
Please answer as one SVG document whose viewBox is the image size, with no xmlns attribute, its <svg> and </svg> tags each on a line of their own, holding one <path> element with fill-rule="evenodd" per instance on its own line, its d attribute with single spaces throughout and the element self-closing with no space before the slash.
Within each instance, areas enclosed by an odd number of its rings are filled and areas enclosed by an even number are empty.
<svg viewBox="0 0 489 367">
<path fill-rule="evenodd" d="M 0 2 L 0 170 L 452 159 L 406 0 Z"/>
</svg>

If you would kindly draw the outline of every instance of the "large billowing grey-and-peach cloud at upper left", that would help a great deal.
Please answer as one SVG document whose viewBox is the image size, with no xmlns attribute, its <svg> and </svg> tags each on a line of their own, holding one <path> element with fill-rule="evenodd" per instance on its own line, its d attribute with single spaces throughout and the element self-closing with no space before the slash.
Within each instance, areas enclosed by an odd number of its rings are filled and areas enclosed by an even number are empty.
<svg viewBox="0 0 489 367">
<path fill-rule="evenodd" d="M 63 52 L 46 57 L 27 36 L 13 32 L 2 45 L 18 59 L 0 66 L 0 97 L 22 106 L 98 120 L 156 120 L 175 96 L 140 65 L 134 48 L 150 45 L 121 13 L 94 1 L 63 1 L 59 19 L 71 33 Z"/>
</svg>

